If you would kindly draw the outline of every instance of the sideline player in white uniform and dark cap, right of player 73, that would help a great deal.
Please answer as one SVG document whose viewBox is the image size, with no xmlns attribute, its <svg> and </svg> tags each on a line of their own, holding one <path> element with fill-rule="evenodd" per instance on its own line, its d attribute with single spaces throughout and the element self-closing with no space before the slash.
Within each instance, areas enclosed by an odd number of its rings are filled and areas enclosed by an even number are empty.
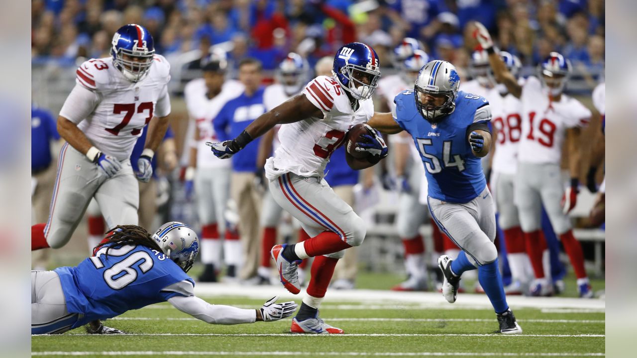
<svg viewBox="0 0 637 358">
<path fill-rule="evenodd" d="M 189 166 L 185 172 L 187 196 L 196 193 L 197 215 L 201 224 L 201 262 L 204 271 L 200 282 L 217 281 L 224 254 L 229 276 L 236 273 L 241 262 L 238 236 L 226 230 L 224 213 L 230 196 L 229 161 L 210 155 L 206 141 L 217 141 L 213 120 L 230 99 L 243 92 L 243 84 L 225 80 L 225 52 L 213 50 L 203 65 L 203 77 L 186 84 L 183 94 L 191 120 L 194 120 L 194 140 L 191 142 Z M 221 234 L 225 240 L 221 243 Z"/>
</svg>

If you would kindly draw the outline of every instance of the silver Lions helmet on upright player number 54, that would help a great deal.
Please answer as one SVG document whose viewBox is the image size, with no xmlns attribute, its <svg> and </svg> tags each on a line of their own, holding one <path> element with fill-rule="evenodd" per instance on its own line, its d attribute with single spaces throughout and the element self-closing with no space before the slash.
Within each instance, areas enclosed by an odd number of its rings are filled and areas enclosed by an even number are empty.
<svg viewBox="0 0 637 358">
<path fill-rule="evenodd" d="M 436 118 L 453 113 L 458 87 L 460 76 L 454 65 L 440 60 L 427 62 L 413 87 L 420 115 L 429 122 L 437 122 Z"/>
</svg>

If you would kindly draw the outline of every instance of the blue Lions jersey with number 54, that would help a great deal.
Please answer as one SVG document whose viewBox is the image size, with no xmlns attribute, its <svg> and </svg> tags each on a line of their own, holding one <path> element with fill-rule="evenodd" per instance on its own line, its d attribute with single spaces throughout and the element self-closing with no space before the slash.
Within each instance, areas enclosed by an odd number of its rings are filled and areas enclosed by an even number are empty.
<svg viewBox="0 0 637 358">
<path fill-rule="evenodd" d="M 429 196 L 451 203 L 468 203 L 487 185 L 480 158 L 471 152 L 468 127 L 489 122 L 489 102 L 484 97 L 458 92 L 455 110 L 440 122 L 431 124 L 418 112 L 413 90 L 394 98 L 394 119 L 412 134 L 425 166 Z"/>
</svg>

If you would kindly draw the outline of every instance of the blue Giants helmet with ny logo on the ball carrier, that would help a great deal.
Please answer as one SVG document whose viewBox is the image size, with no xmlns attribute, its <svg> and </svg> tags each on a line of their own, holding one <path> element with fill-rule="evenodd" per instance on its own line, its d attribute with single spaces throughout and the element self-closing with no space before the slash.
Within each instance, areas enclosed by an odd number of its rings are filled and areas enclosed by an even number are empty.
<svg viewBox="0 0 637 358">
<path fill-rule="evenodd" d="M 373 48 L 361 42 L 352 42 L 338 49 L 332 71 L 341 87 L 355 99 L 368 99 L 374 93 L 380 78 L 380 61 Z M 366 79 L 367 83 L 362 82 Z"/>
</svg>

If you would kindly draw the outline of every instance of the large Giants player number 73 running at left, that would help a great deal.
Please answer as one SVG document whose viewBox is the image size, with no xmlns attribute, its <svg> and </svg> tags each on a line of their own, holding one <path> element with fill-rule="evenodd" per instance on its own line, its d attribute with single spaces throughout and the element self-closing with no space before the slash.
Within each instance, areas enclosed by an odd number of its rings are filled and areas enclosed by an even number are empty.
<svg viewBox="0 0 637 358">
<path fill-rule="evenodd" d="M 67 143 L 58 160 L 50 214 L 46 225 L 31 227 L 32 250 L 63 247 L 92 197 L 107 227 L 138 223 L 135 176 L 150 180 L 152 157 L 168 128 L 169 70 L 168 61 L 155 54 L 150 33 L 134 24 L 115 32 L 111 57 L 91 59 L 77 69 L 76 85 L 57 119 Z M 134 175 L 129 158 L 149 123 L 140 172 Z"/>
</svg>

